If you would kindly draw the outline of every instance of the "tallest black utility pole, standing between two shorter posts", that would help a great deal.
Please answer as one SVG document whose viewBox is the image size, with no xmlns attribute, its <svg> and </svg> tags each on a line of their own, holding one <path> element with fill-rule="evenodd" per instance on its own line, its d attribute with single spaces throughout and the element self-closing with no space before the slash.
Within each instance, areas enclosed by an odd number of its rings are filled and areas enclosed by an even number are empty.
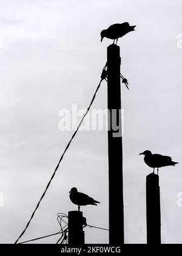
<svg viewBox="0 0 182 256">
<path fill-rule="evenodd" d="M 111 44 L 107 47 L 110 244 L 124 244 L 123 148 L 121 133 L 120 66 L 120 47 L 116 44 Z M 118 126 L 118 130 L 115 130 L 116 126 Z"/>
</svg>

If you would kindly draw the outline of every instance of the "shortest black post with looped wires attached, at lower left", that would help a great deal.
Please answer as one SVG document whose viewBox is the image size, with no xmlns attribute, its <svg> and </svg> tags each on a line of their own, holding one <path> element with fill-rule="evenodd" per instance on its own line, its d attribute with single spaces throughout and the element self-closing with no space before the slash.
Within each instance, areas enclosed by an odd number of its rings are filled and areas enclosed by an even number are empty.
<svg viewBox="0 0 182 256">
<path fill-rule="evenodd" d="M 84 218 L 83 213 L 78 211 L 69 212 L 69 244 L 82 245 L 84 244 Z"/>
</svg>

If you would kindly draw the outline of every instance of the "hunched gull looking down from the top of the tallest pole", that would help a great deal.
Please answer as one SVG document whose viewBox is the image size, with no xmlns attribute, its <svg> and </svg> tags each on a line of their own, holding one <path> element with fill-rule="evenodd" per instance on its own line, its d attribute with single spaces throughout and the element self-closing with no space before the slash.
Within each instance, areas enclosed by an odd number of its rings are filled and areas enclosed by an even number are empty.
<svg viewBox="0 0 182 256">
<path fill-rule="evenodd" d="M 101 41 L 103 41 L 104 37 L 107 37 L 109 39 L 113 39 L 113 44 L 116 40 L 117 44 L 118 38 L 123 37 L 131 31 L 134 31 L 135 27 L 136 26 L 130 26 L 130 24 L 127 22 L 121 24 L 113 24 L 110 27 L 108 27 L 108 29 L 104 29 L 103 31 L 101 31 Z"/>
</svg>

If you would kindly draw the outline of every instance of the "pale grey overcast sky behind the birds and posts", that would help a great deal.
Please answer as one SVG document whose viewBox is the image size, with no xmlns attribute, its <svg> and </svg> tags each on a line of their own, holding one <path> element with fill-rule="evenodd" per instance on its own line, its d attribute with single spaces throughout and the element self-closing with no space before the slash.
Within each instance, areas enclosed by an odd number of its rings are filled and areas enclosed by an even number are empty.
<svg viewBox="0 0 182 256">
<path fill-rule="evenodd" d="M 146 243 L 145 149 L 181 162 L 181 0 L 2 1 L 0 8 L 0 243 L 14 243 L 73 132 L 58 130 L 58 112 L 86 108 L 112 43 L 100 32 L 129 21 L 119 40 L 124 76 L 124 209 L 126 243 Z M 103 82 L 93 108 L 107 108 Z M 59 231 L 58 212 L 76 210 L 77 187 L 100 201 L 83 207 L 87 223 L 108 227 L 107 132 L 79 132 L 22 240 Z M 182 243 L 180 165 L 160 172 L 162 241 Z M 117 224 L 117 223 L 116 223 Z M 39 243 L 55 243 L 59 237 Z M 86 229 L 86 243 L 108 243 L 108 232 Z"/>
</svg>

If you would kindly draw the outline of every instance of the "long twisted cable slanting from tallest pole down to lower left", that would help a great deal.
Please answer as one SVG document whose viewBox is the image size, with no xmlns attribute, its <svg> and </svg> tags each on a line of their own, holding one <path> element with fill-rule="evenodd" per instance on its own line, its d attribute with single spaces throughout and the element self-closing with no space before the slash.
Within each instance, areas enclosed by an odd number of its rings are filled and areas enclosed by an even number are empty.
<svg viewBox="0 0 182 256">
<path fill-rule="evenodd" d="M 98 85 L 98 87 L 96 88 L 95 93 L 93 94 L 92 101 L 90 102 L 90 105 L 89 105 L 89 107 L 87 108 L 86 113 L 84 114 L 83 118 L 82 118 L 81 121 L 79 122 L 76 131 L 73 133 L 73 136 L 72 136 L 71 140 L 69 141 L 69 143 L 68 143 L 67 146 L 66 146 L 66 149 L 64 150 L 63 154 L 61 155 L 61 158 L 59 159 L 58 165 L 56 166 L 56 169 L 55 169 L 55 171 L 53 172 L 53 175 L 52 175 L 51 179 L 49 180 L 49 182 L 48 182 L 48 184 L 47 184 L 47 187 L 45 188 L 44 193 L 43 193 L 42 196 L 41 196 L 41 199 L 39 200 L 38 204 L 36 205 L 36 208 L 35 208 L 35 210 L 33 211 L 32 216 L 31 216 L 31 218 L 29 219 L 29 222 L 27 223 L 27 226 L 25 227 L 25 229 L 23 230 L 23 232 L 21 233 L 21 235 L 18 237 L 18 239 L 15 241 L 15 244 L 18 243 L 18 241 L 19 241 L 19 239 L 21 238 L 21 236 L 24 235 L 25 230 L 27 230 L 27 228 L 29 227 L 29 224 L 30 224 L 30 222 L 32 221 L 33 216 L 35 215 L 35 212 L 36 212 L 36 210 L 38 209 L 39 204 L 41 203 L 42 199 L 44 198 L 45 193 L 47 192 L 47 190 L 48 190 L 48 188 L 49 188 L 49 186 L 50 186 L 50 183 L 51 183 L 52 180 L 53 180 L 53 177 L 55 177 L 56 171 L 57 171 L 57 169 L 59 168 L 59 164 L 61 163 L 62 158 L 64 157 L 64 154 L 66 153 L 67 149 L 69 148 L 69 146 L 70 146 L 70 144 L 71 144 L 73 138 L 75 137 L 76 133 L 77 133 L 78 130 L 79 130 L 79 127 L 80 127 L 81 124 L 83 123 L 84 118 L 86 117 L 87 113 L 89 112 L 90 107 L 91 107 L 91 105 L 92 105 L 92 103 L 93 103 L 93 101 L 94 101 L 94 99 L 95 99 L 96 93 L 98 92 L 99 87 L 101 86 L 101 82 L 102 82 L 102 81 L 103 81 L 103 78 L 101 78 L 101 80 L 100 80 L 100 82 L 99 82 L 99 85 Z"/>
</svg>

